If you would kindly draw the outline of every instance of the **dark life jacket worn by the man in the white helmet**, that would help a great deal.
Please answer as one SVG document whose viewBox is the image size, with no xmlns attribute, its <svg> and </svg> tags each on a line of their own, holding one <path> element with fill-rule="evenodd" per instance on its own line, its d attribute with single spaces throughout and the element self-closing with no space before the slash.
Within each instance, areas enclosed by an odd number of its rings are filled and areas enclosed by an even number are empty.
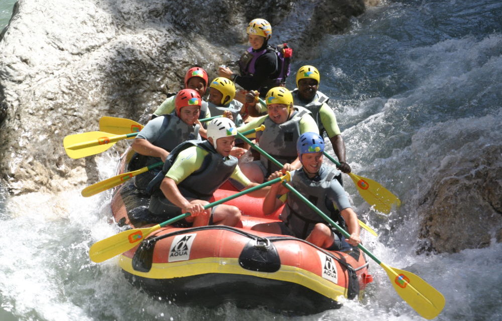
<svg viewBox="0 0 502 321">
<path fill-rule="evenodd" d="M 178 184 L 178 189 L 184 197 L 209 200 L 233 173 L 237 166 L 237 158 L 221 156 L 209 141 L 191 140 L 177 146 L 167 157 L 162 171 L 148 184 L 147 192 L 162 193 L 160 184 L 179 153 L 189 147 L 196 146 L 209 152 L 202 161 L 202 166 Z"/>
</svg>

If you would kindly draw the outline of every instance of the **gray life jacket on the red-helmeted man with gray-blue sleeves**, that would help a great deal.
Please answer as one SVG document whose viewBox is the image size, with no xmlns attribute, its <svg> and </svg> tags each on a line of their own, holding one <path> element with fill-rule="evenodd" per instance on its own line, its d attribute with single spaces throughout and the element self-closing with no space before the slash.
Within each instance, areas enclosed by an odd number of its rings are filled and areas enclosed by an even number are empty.
<svg viewBox="0 0 502 321">
<path fill-rule="evenodd" d="M 163 131 L 155 141 L 150 142 L 153 145 L 171 152 L 176 146 L 184 141 L 197 139 L 199 137 L 198 124 L 194 126 L 188 125 L 183 122 L 181 118 L 177 117 L 174 112 L 159 117 L 164 118 L 162 123 Z M 135 153 L 129 162 L 128 170 L 137 170 L 160 161 L 162 161 L 160 157 L 152 157 Z"/>
</svg>

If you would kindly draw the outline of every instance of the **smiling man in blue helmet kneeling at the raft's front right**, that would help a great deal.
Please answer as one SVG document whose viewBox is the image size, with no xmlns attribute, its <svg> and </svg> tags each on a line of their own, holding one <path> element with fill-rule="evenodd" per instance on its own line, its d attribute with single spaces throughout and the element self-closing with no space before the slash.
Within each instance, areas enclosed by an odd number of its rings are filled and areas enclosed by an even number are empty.
<svg viewBox="0 0 502 321">
<path fill-rule="evenodd" d="M 359 223 L 356 213 L 350 207 L 345 191 L 334 179 L 339 171 L 322 163 L 324 139 L 317 133 L 304 133 L 297 143 L 298 157 L 302 168 L 291 172 L 290 184 L 309 199 L 335 223 L 350 234 L 345 239 L 338 231 L 326 225 L 316 212 L 281 183 L 272 185 L 263 202 L 263 211 L 270 215 L 284 202 L 280 215 L 281 222 L 255 225 L 252 230 L 291 235 L 304 239 L 318 247 L 331 251 L 350 250 L 357 246 Z M 272 177 L 280 176 L 278 171 Z"/>
</svg>

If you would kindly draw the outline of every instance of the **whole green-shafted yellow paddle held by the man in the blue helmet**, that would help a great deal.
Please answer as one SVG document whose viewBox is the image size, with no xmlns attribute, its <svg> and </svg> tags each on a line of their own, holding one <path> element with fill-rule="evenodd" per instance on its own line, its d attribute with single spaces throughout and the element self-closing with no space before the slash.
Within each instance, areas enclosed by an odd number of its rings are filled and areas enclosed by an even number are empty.
<svg viewBox="0 0 502 321">
<path fill-rule="evenodd" d="M 317 206 L 312 204 L 307 198 L 305 198 L 305 196 L 300 194 L 293 186 L 284 181 L 283 185 L 292 191 L 298 198 L 304 201 L 318 215 L 326 220 L 326 222 L 334 226 L 341 234 L 343 234 L 343 236 L 347 239 L 350 238 L 350 234 L 343 230 L 338 224 L 333 222 L 333 220 L 325 215 L 325 213 L 317 208 Z M 417 311 L 418 314 L 427 319 L 432 319 L 441 312 L 445 305 L 445 299 L 441 292 L 436 290 L 432 285 L 409 271 L 393 268 L 383 263 L 361 244 L 357 247 L 384 268 L 396 292 L 398 292 L 399 296 L 410 304 L 410 306 Z"/>
</svg>

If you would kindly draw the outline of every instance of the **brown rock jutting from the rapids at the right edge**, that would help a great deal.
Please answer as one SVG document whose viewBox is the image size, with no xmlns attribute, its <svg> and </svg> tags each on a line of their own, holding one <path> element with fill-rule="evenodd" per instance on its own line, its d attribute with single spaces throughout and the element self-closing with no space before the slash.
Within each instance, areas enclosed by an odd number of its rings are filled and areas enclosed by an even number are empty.
<svg viewBox="0 0 502 321">
<path fill-rule="evenodd" d="M 450 159 L 433 178 L 418 207 L 419 253 L 455 253 L 501 241 L 502 146 L 484 147 L 476 155 Z"/>
</svg>

